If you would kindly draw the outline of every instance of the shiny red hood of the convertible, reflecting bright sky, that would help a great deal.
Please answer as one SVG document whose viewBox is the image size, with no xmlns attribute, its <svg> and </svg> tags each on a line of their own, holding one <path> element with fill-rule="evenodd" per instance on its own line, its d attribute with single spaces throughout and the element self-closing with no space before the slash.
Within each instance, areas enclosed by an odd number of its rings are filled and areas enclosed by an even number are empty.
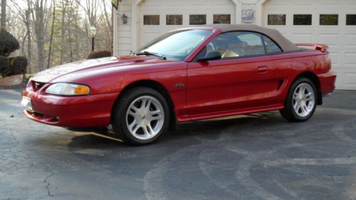
<svg viewBox="0 0 356 200">
<path fill-rule="evenodd" d="M 73 63 L 59 65 L 48 70 L 43 70 L 31 78 L 31 80 L 40 83 L 52 83 L 57 78 L 77 73 L 83 70 L 95 70 L 98 68 L 120 67 L 126 65 L 135 65 L 137 63 L 150 63 L 159 58 L 152 56 L 123 56 L 120 58 L 108 57 L 90 60 L 80 60 Z M 165 60 L 162 60 L 165 61 Z"/>
</svg>

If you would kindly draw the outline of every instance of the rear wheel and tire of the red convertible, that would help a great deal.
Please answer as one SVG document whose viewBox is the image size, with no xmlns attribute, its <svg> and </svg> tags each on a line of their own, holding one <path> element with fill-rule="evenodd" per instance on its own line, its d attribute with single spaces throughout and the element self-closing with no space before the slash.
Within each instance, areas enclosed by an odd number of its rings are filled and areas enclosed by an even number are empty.
<svg viewBox="0 0 356 200">
<path fill-rule="evenodd" d="M 290 86 L 281 115 L 290 122 L 303 122 L 313 116 L 318 103 L 317 90 L 308 78 L 298 78 Z"/>
</svg>

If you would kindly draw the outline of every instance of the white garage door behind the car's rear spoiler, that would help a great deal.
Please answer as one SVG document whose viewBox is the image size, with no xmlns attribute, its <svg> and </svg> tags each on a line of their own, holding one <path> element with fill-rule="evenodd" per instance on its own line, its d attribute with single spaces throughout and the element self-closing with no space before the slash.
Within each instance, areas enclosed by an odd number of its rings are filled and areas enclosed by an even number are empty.
<svg viewBox="0 0 356 200">
<path fill-rule="evenodd" d="M 356 1 L 269 0 L 264 26 L 276 28 L 294 43 L 330 46 L 337 89 L 356 90 Z"/>
</svg>

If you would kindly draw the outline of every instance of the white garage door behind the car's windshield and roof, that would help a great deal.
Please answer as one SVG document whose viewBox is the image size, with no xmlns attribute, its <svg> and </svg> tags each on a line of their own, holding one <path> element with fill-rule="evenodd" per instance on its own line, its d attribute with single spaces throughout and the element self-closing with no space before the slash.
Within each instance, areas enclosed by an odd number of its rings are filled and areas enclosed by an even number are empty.
<svg viewBox="0 0 356 200">
<path fill-rule="evenodd" d="M 140 46 L 177 28 L 235 23 L 235 5 L 231 0 L 145 0 L 139 9 Z"/>
</svg>

